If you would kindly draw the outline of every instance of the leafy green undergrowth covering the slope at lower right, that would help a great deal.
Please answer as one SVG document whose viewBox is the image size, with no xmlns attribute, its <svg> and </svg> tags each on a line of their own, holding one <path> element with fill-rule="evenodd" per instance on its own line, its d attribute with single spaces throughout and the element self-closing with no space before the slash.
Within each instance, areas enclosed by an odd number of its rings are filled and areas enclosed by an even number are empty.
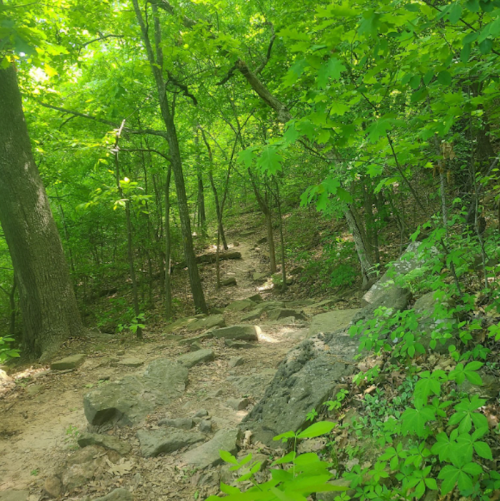
<svg viewBox="0 0 500 501">
<path fill-rule="evenodd" d="M 260 465 L 250 464 L 239 479 L 253 482 L 250 488 L 222 485 L 227 499 L 322 500 L 327 490 L 339 491 L 328 494 L 335 501 L 414 500 L 431 491 L 498 499 L 500 386 L 491 376 L 500 376 L 499 236 L 463 228 L 462 214 L 446 227 L 434 220 L 419 228 L 406 257 L 421 266 L 392 273 L 414 295 L 431 294 L 431 310 L 379 308 L 351 327 L 364 370 L 307 416 L 338 424 L 319 421 L 276 437 L 291 439 L 291 451 L 272 463 L 263 483 L 255 478 Z M 421 230 L 428 236 L 419 243 Z M 319 431 L 328 435 L 321 453 L 298 454 L 297 441 Z M 251 463 L 251 456 L 222 458 L 235 470 Z"/>
</svg>

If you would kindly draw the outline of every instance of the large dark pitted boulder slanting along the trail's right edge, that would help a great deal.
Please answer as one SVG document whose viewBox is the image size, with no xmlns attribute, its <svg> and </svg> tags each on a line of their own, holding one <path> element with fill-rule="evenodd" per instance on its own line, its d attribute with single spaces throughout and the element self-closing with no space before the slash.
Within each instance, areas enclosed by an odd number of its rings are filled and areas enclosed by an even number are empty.
<svg viewBox="0 0 500 501">
<path fill-rule="evenodd" d="M 264 397 L 243 419 L 242 428 L 251 430 L 255 440 L 276 446 L 274 436 L 299 430 L 306 424 L 306 414 L 318 409 L 353 373 L 357 351 L 358 340 L 346 331 L 300 343 L 287 353 Z"/>
</svg>

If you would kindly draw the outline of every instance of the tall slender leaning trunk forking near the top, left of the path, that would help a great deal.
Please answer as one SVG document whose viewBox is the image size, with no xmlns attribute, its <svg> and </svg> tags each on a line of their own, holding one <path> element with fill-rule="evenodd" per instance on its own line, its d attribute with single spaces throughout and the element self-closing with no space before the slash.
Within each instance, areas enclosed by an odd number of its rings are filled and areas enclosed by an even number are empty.
<svg viewBox="0 0 500 501">
<path fill-rule="evenodd" d="M 189 282 L 193 294 L 193 302 L 197 312 L 208 313 L 201 286 L 200 274 L 196 264 L 196 256 L 193 249 L 193 235 L 191 233 L 191 222 L 189 220 L 189 209 L 186 197 L 186 187 L 184 184 L 184 174 L 182 172 L 181 152 L 177 138 L 177 129 L 174 123 L 173 110 L 167 101 L 165 81 L 162 75 L 163 53 L 161 49 L 161 30 L 156 6 L 153 5 L 154 25 L 155 25 L 155 48 L 156 58 L 148 36 L 148 29 L 144 23 L 138 0 L 133 0 L 137 21 L 141 27 L 142 39 L 146 46 L 149 64 L 154 75 L 160 110 L 167 130 L 166 138 L 169 146 L 172 171 L 174 173 L 175 188 L 177 191 L 177 201 L 179 205 L 179 219 L 181 221 L 182 242 L 184 244 L 184 255 L 189 273 Z"/>
</svg>

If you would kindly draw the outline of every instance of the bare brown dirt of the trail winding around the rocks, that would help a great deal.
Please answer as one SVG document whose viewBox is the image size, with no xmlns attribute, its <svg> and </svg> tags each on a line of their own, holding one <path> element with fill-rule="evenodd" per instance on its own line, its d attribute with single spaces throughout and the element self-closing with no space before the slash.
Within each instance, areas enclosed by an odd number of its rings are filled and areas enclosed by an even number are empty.
<svg viewBox="0 0 500 501">
<path fill-rule="evenodd" d="M 257 234 L 251 238 L 257 239 Z M 214 280 L 215 265 L 200 267 L 210 304 L 225 306 L 260 293 L 264 300 L 260 305 L 283 305 L 276 301 L 285 301 L 287 297 L 275 297 L 270 281 L 257 283 L 253 280 L 253 273 L 266 271 L 260 250 L 255 249 L 253 241 L 239 239 L 233 250 L 241 252 L 242 259 L 222 261 L 221 278 L 234 277 L 237 286 L 217 290 L 209 283 L 209 279 Z M 314 313 L 324 311 L 311 309 L 313 302 L 286 304 L 310 319 Z M 246 314 L 247 311 L 225 309 L 226 325 L 241 324 Z M 180 451 L 157 458 L 142 457 L 136 433 L 138 429 L 158 429 L 158 421 L 164 418 L 191 418 L 205 413 L 212 432 L 238 425 L 263 395 L 285 354 L 308 332 L 308 321 L 293 317 L 271 321 L 266 312 L 260 320 L 250 324 L 260 327 L 259 342 L 236 343 L 232 347 L 224 339 L 200 339 L 198 348 L 213 350 L 214 360 L 191 367 L 183 395 L 167 409 L 150 413 L 144 425 L 115 428 L 112 433 L 132 446 L 132 455 L 108 459 L 105 467 L 87 465 L 87 470 L 99 470 L 90 478 L 82 476 L 80 471 L 73 475 L 67 473 L 74 455 L 77 462 L 89 459 L 80 456 L 90 448 L 77 450 L 77 439 L 88 424 L 83 396 L 109 381 L 142 375 L 154 359 L 173 360 L 189 353 L 188 343 L 176 341 L 199 332 L 186 334 L 185 330 L 178 329 L 165 335 L 164 329 L 146 330 L 144 343 L 138 343 L 131 335 L 99 334 L 73 340 L 61 356 L 84 353 L 85 362 L 76 370 L 64 373 L 37 367 L 13 375 L 15 382 L 0 399 L 0 499 L 2 492 L 12 490 L 26 491 L 26 496 L 19 498 L 21 500 L 42 499 L 45 482 L 47 479 L 49 483 L 54 482 L 56 476 L 62 478 L 65 485 L 66 494 L 61 494 L 60 499 L 94 499 L 120 486 L 131 490 L 136 501 L 195 499 L 196 492 L 196 496 L 201 497 L 218 492 L 219 474 L 210 471 L 193 474 L 189 468 L 182 468 Z M 93 457 L 91 460 L 97 461 Z"/>
</svg>

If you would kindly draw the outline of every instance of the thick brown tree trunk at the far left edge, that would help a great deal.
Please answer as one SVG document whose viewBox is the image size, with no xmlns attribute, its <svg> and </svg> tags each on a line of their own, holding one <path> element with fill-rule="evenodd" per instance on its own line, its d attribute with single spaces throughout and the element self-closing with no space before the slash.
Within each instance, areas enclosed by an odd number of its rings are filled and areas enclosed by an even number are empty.
<svg viewBox="0 0 500 501">
<path fill-rule="evenodd" d="M 14 66 L 0 70 L 0 222 L 19 289 L 24 349 L 47 360 L 83 326 L 31 151 Z"/>
</svg>

